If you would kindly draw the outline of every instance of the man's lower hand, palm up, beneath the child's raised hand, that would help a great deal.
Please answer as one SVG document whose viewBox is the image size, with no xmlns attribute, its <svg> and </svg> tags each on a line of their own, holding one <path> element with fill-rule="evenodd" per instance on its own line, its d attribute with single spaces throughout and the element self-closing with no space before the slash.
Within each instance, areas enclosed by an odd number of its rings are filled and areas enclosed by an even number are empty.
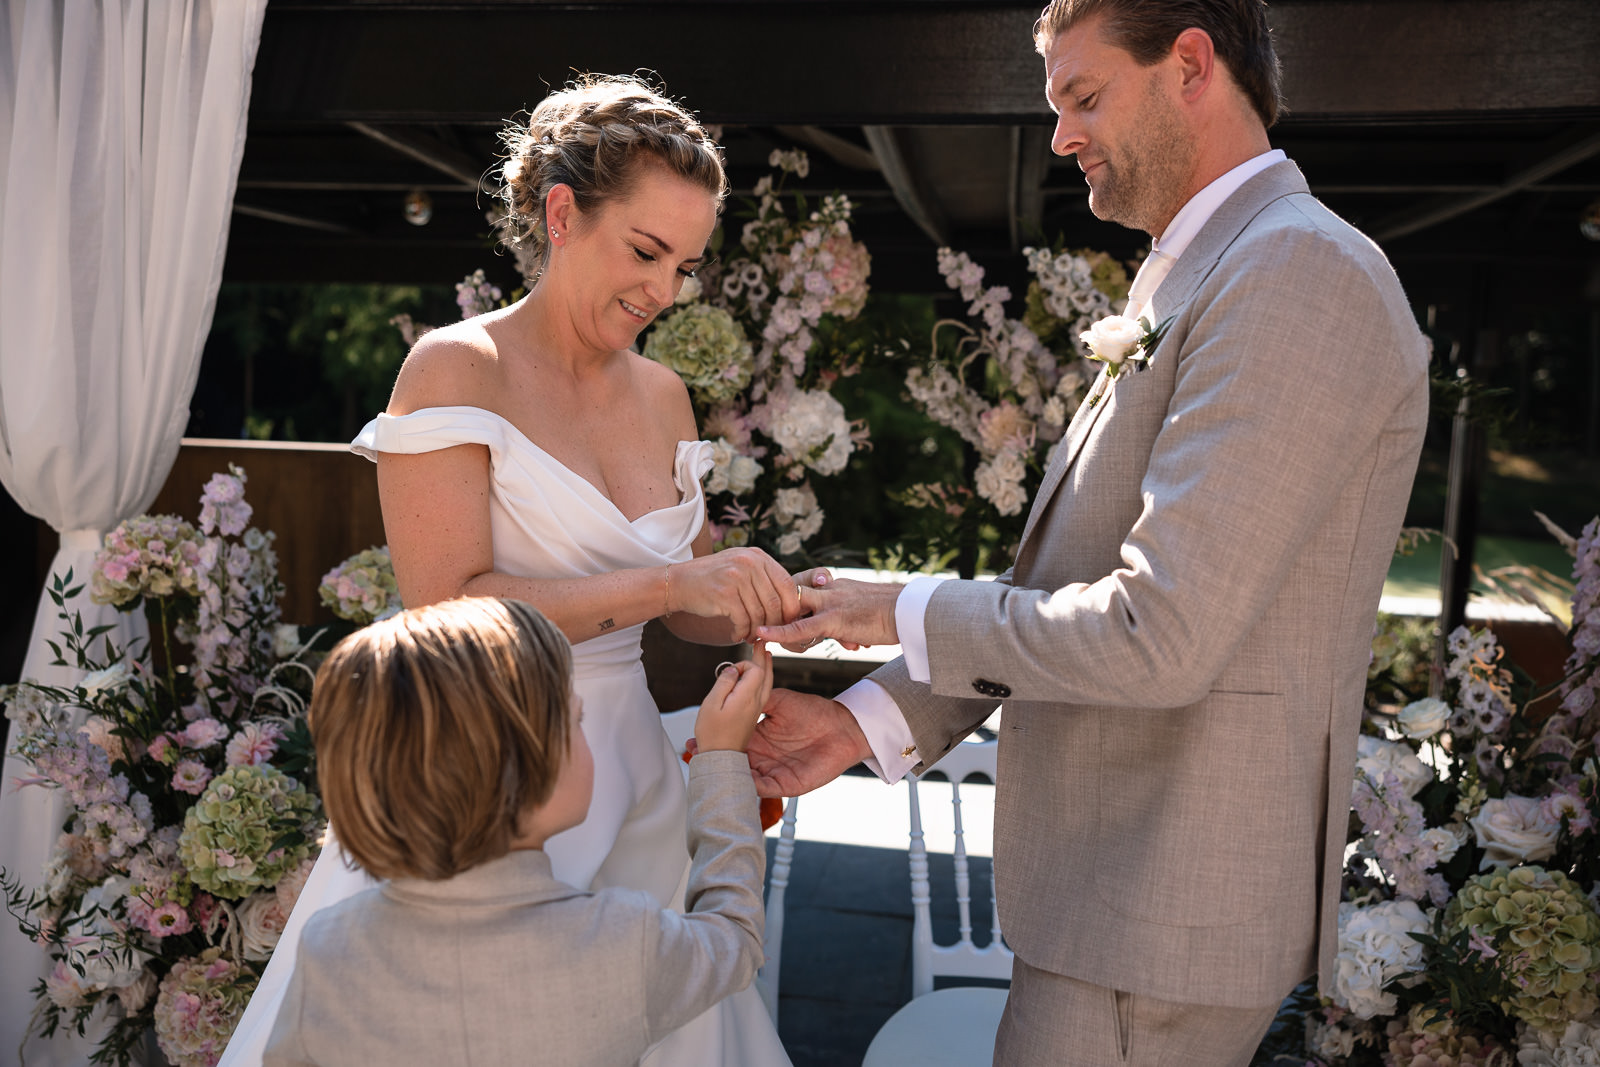
<svg viewBox="0 0 1600 1067">
<path fill-rule="evenodd" d="M 798 797 L 872 755 L 866 734 L 838 701 L 773 689 L 766 718 L 755 725 L 746 752 L 762 797 Z"/>
</svg>

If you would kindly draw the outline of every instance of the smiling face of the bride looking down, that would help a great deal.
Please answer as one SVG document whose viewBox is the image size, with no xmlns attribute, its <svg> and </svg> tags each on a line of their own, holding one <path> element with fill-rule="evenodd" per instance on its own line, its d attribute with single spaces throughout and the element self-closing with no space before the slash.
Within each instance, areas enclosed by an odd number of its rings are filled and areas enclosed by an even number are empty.
<svg viewBox="0 0 1600 1067">
<path fill-rule="evenodd" d="M 651 163 L 642 165 L 627 197 L 592 211 L 560 206 L 550 213 L 560 232 L 550 282 L 565 294 L 579 336 L 613 352 L 630 347 L 672 307 L 717 226 L 717 202 L 709 192 Z"/>
</svg>

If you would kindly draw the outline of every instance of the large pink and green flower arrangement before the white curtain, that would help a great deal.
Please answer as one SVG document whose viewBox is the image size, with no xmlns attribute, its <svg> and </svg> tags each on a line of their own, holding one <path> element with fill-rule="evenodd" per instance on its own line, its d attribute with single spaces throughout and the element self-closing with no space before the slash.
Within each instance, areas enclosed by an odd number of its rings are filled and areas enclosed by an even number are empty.
<svg viewBox="0 0 1600 1067">
<path fill-rule="evenodd" d="M 0 689 L 24 785 L 69 800 L 45 883 L 3 872 L 6 907 L 54 960 L 34 1025 L 109 1025 L 94 1062 L 126 1064 L 154 1027 L 166 1057 L 214 1064 L 304 886 L 322 830 L 309 784 L 296 627 L 278 624 L 272 534 L 250 526 L 245 472 L 214 475 L 194 526 L 141 515 L 109 533 L 90 597 L 142 609 L 117 648 L 56 576 L 58 665 L 72 686 Z"/>
</svg>

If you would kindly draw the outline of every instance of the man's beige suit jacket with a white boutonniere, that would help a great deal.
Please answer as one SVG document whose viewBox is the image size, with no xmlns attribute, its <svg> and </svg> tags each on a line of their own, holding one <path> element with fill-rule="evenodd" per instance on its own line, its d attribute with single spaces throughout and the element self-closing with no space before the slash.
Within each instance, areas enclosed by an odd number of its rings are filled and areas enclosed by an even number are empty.
<svg viewBox="0 0 1600 1067">
<path fill-rule="evenodd" d="M 995 880 L 1024 960 L 1262 1006 L 1318 963 L 1331 984 L 1427 347 L 1382 253 L 1286 162 L 1224 202 L 1154 309 L 1149 370 L 1077 413 L 1013 569 L 928 603 L 931 685 L 901 661 L 874 678 L 925 763 L 1005 697 Z"/>
</svg>

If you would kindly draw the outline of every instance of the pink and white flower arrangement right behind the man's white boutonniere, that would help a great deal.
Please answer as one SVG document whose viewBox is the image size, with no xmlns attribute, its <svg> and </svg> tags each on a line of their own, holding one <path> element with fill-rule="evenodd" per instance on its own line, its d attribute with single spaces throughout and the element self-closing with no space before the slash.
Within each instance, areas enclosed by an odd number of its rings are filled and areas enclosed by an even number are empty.
<svg viewBox="0 0 1600 1067">
<path fill-rule="evenodd" d="M 1027 248 L 1024 254 L 1034 280 L 1022 318 L 1011 318 L 1010 288 L 984 286 L 984 269 L 966 253 L 938 253 L 939 274 L 966 301 L 973 322 L 934 325 L 926 357 L 906 374 L 906 390 L 930 419 L 960 435 L 976 464 L 896 496 L 938 520 L 934 545 L 954 547 L 963 530 L 981 523 L 1002 531 L 1006 545 L 1021 536 L 1051 450 L 1094 378 L 1080 336 L 1128 296 L 1126 270 L 1104 253 Z"/>
</svg>

